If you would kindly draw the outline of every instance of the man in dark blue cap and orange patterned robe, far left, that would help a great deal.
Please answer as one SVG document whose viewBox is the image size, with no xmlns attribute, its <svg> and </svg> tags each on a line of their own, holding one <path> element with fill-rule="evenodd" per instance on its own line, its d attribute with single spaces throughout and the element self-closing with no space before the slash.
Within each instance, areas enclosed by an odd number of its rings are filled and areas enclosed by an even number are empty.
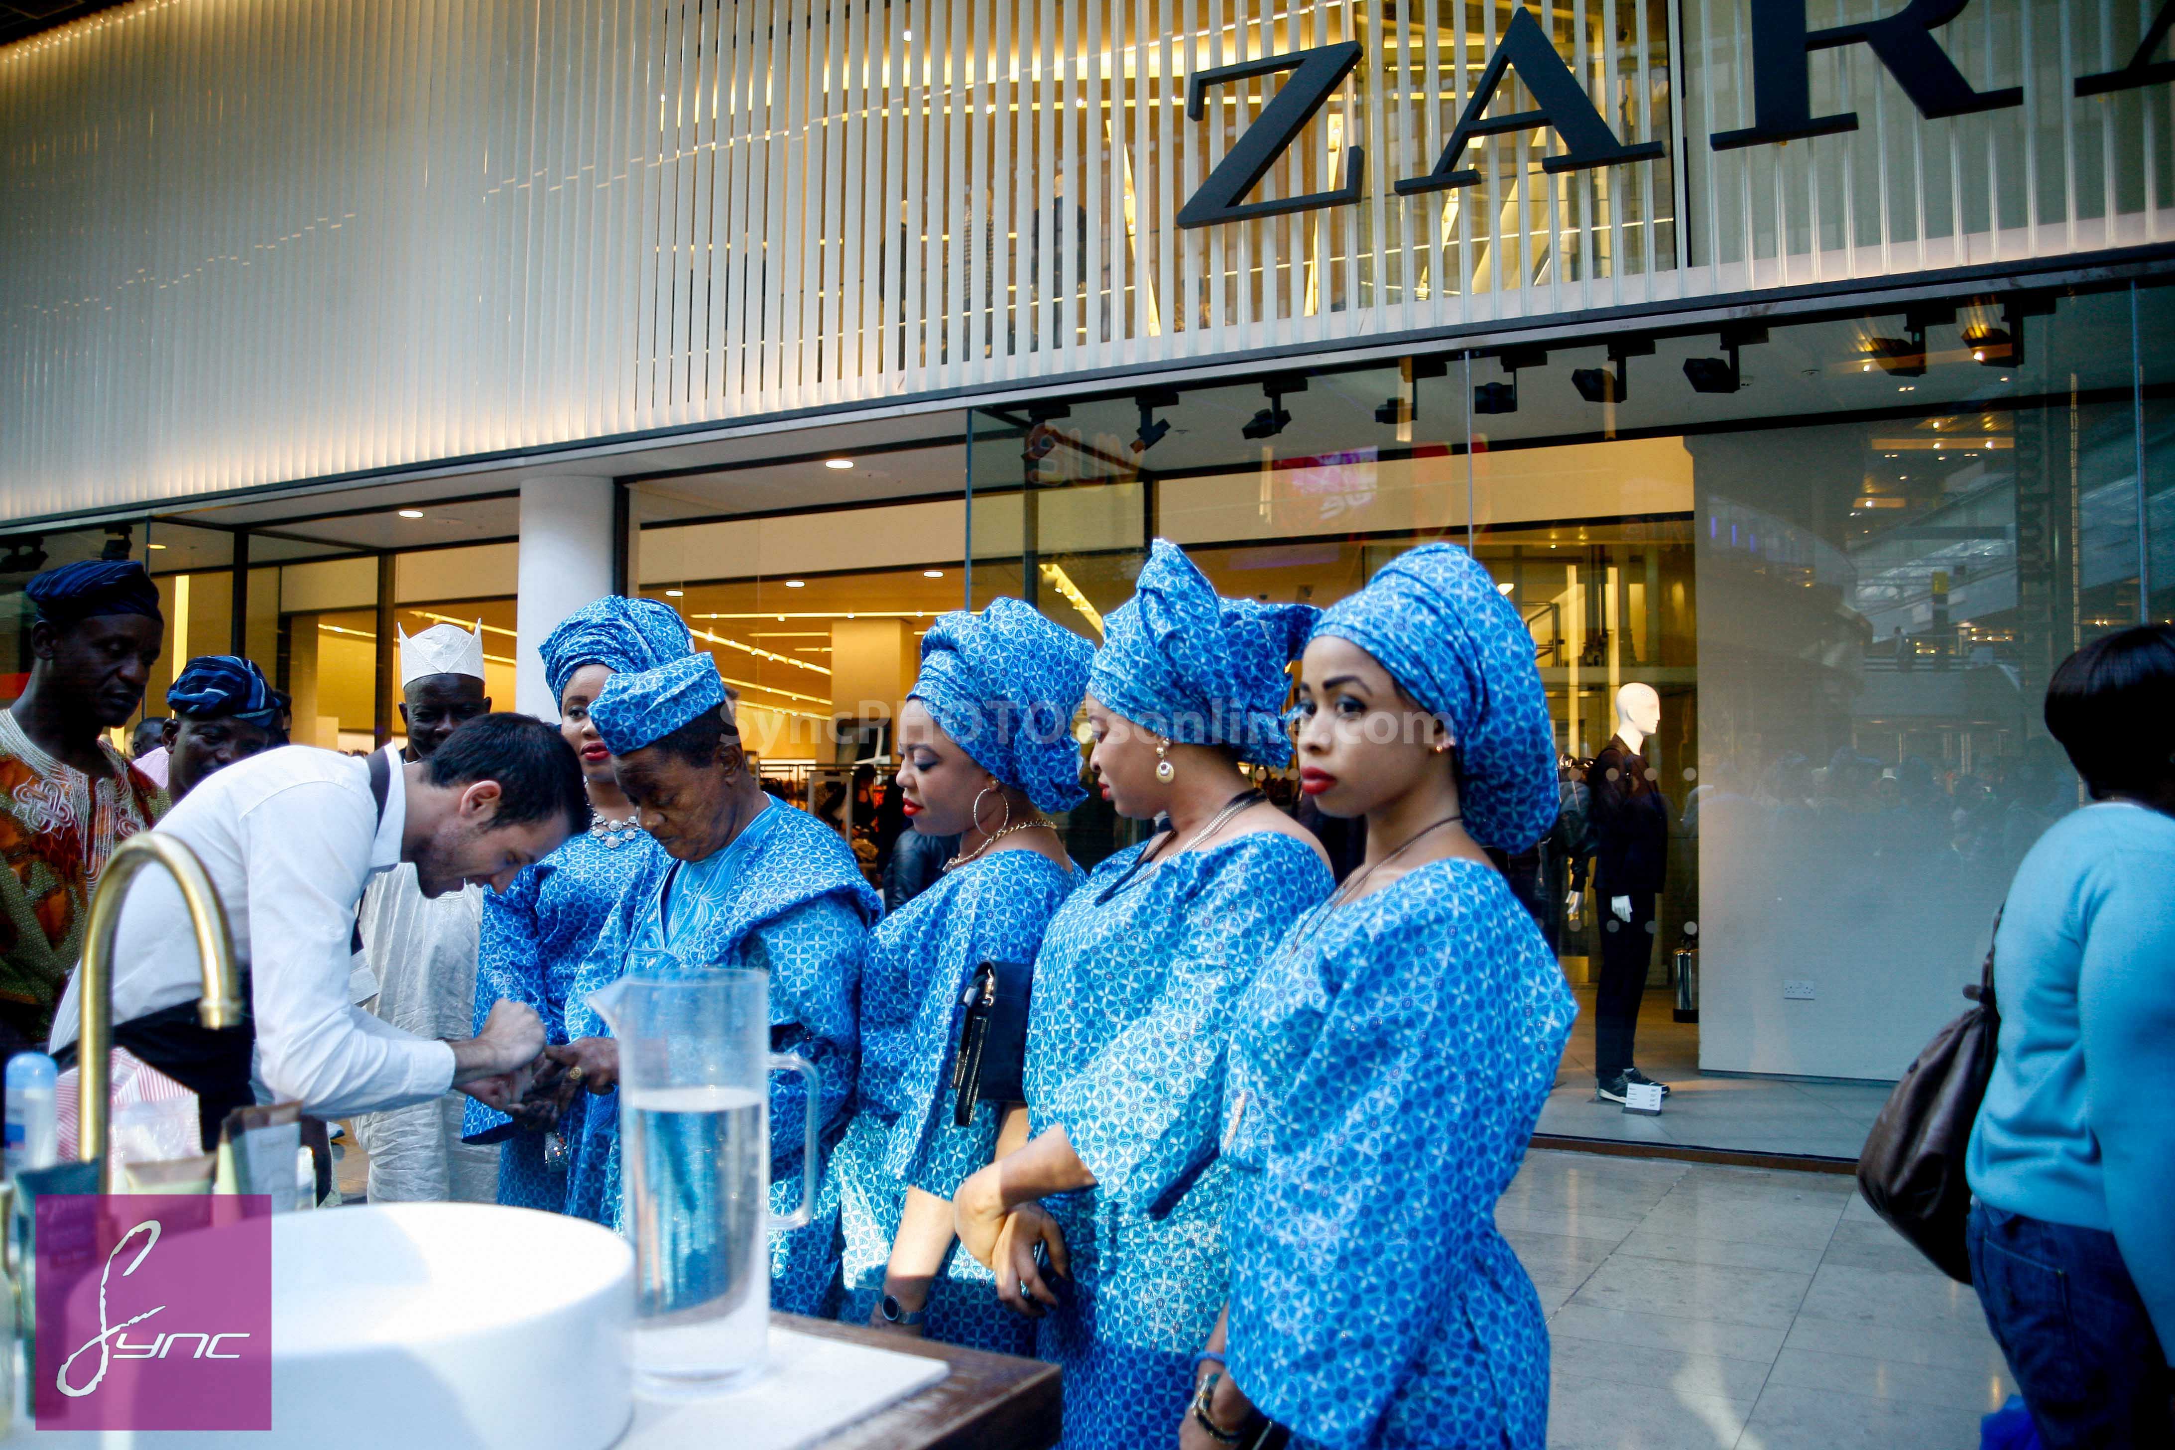
<svg viewBox="0 0 2175 1450">
<path fill-rule="evenodd" d="M 0 711 L 0 1048 L 46 1041 L 52 1007 L 83 950 L 83 922 L 107 859 L 163 811 L 104 730 L 126 726 L 165 620 L 133 559 L 46 570 L 24 585 L 30 683 Z"/>
</svg>

